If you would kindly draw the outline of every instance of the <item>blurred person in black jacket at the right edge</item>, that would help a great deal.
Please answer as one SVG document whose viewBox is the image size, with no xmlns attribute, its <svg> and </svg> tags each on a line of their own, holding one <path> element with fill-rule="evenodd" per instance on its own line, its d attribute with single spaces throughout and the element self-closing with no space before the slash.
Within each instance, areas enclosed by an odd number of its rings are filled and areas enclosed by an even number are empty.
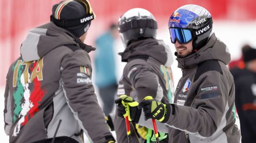
<svg viewBox="0 0 256 143">
<path fill-rule="evenodd" d="M 236 107 L 241 124 L 241 135 L 243 143 L 256 141 L 256 49 L 249 48 L 244 52 L 246 68 L 240 70 L 232 69 L 230 72 L 234 77 L 236 87 Z"/>
</svg>

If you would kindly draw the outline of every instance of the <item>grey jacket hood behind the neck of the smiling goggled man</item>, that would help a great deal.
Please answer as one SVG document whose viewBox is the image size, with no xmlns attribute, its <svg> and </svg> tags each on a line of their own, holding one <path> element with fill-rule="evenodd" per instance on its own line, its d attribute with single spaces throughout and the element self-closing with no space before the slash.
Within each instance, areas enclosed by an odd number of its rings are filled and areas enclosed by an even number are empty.
<svg viewBox="0 0 256 143">
<path fill-rule="evenodd" d="M 200 50 L 185 58 L 177 58 L 176 60 L 178 61 L 178 68 L 182 69 L 195 66 L 207 60 L 218 60 L 228 65 L 230 52 L 228 47 L 216 38 L 215 34 L 212 34 L 208 43 Z"/>
</svg>

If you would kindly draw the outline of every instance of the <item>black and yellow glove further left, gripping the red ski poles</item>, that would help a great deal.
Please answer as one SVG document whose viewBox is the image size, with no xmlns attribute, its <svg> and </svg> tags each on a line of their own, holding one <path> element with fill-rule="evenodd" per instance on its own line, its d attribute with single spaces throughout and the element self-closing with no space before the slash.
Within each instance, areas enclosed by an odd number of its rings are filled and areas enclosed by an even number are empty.
<svg viewBox="0 0 256 143">
<path fill-rule="evenodd" d="M 115 103 L 117 104 L 116 112 L 118 117 L 124 118 L 128 116 L 129 121 L 139 122 L 141 109 L 138 109 L 139 103 L 132 97 L 121 95 L 115 100 Z"/>
</svg>

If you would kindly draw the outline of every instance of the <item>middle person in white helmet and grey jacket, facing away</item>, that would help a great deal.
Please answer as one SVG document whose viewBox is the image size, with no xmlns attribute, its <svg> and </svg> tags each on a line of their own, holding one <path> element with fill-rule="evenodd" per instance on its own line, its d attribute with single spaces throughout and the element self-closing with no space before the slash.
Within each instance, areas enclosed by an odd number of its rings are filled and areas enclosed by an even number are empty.
<svg viewBox="0 0 256 143">
<path fill-rule="evenodd" d="M 119 81 L 118 97 L 126 94 L 142 101 L 151 95 L 159 101 L 172 102 L 174 88 L 170 65 L 173 56 L 169 46 L 156 39 L 157 28 L 155 17 L 145 9 L 131 9 L 119 18 L 118 29 L 125 46 L 120 55 L 127 64 Z M 118 106 L 117 110 L 119 107 L 122 108 Z M 117 116 L 122 117 L 114 120 L 117 141 L 128 142 L 123 115 Z M 138 120 L 134 119 L 130 124 L 132 142 L 155 142 L 152 130 L 136 123 Z M 166 133 L 159 134 L 161 142 L 168 142 Z"/>
</svg>

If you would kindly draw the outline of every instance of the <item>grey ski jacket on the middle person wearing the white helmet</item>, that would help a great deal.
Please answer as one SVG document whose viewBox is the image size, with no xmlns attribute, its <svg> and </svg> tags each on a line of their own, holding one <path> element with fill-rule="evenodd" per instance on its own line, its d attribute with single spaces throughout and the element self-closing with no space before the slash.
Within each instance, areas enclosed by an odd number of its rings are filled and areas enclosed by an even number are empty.
<svg viewBox="0 0 256 143">
<path fill-rule="evenodd" d="M 120 54 L 122 62 L 127 64 L 119 81 L 118 96 L 125 94 L 138 102 L 146 96 L 153 96 L 163 102 L 172 102 L 174 86 L 170 65 L 173 57 L 169 46 L 160 40 L 145 39 L 131 43 Z M 143 140 L 135 124 L 130 126 L 132 142 Z M 128 142 L 124 119 L 116 116 L 114 128 L 117 142 Z"/>
</svg>

